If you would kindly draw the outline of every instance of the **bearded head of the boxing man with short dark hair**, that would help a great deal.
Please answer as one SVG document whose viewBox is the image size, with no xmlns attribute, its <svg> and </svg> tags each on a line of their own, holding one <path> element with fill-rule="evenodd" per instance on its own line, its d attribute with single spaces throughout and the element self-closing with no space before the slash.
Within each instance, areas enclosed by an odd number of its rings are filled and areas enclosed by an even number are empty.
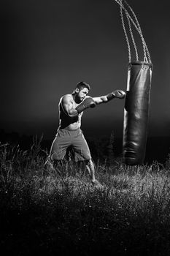
<svg viewBox="0 0 170 256">
<path fill-rule="evenodd" d="M 87 96 L 88 91 L 90 91 L 90 86 L 88 83 L 85 83 L 85 82 L 77 83 L 76 88 L 72 93 L 75 96 L 75 101 L 77 103 L 82 102 L 82 100 L 85 99 L 85 97 Z"/>
</svg>

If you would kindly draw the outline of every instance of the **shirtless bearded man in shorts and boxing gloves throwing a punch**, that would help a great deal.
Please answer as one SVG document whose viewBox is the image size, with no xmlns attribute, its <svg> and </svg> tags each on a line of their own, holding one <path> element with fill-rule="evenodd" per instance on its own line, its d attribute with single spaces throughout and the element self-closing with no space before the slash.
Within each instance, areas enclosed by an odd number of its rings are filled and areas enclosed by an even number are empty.
<svg viewBox="0 0 170 256">
<path fill-rule="evenodd" d="M 72 94 L 66 94 L 61 97 L 58 105 L 58 132 L 53 140 L 50 148 L 50 155 L 45 165 L 53 167 L 54 160 L 62 160 L 66 154 L 66 149 L 69 146 L 72 146 L 74 149 L 75 160 L 85 161 L 85 166 L 90 173 L 92 184 L 98 186 L 99 183 L 95 178 L 95 170 L 88 143 L 80 129 L 82 113 L 87 108 L 94 108 L 96 105 L 109 102 L 111 99 L 123 99 L 125 97 L 125 92 L 122 90 L 115 90 L 105 96 L 92 98 L 87 96 L 88 91 L 90 91 L 89 84 L 80 82 L 77 83 Z"/>
</svg>

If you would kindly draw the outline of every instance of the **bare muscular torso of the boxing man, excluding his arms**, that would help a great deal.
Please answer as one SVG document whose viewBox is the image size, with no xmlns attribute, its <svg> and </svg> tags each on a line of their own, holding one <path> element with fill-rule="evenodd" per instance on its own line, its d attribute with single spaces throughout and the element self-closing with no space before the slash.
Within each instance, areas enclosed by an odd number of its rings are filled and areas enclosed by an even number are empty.
<svg viewBox="0 0 170 256">
<path fill-rule="evenodd" d="M 72 94 L 70 94 L 72 96 Z M 76 108 L 77 107 L 77 103 L 74 101 L 73 97 L 71 97 L 71 103 L 72 103 L 72 108 Z M 82 117 L 82 113 L 80 113 L 77 116 L 69 116 L 68 113 L 66 113 L 66 111 L 63 108 L 62 105 L 62 98 L 59 102 L 58 105 L 59 108 L 59 129 L 70 129 L 70 130 L 74 130 L 74 129 L 78 129 L 81 126 L 81 117 Z"/>
</svg>

